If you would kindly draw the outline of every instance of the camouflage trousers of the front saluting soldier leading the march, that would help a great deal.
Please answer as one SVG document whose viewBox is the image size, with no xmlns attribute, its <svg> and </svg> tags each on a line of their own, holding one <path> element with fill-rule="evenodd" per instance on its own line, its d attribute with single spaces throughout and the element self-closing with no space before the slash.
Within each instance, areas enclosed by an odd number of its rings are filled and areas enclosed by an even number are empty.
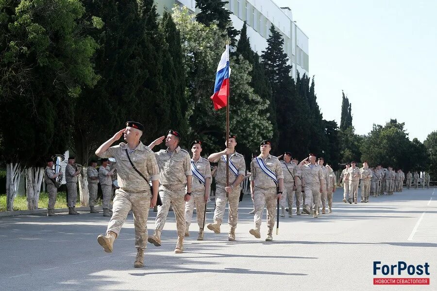
<svg viewBox="0 0 437 291">
<path fill-rule="evenodd" d="M 121 227 L 130 210 L 134 212 L 135 247 L 146 249 L 147 245 L 147 218 L 149 217 L 151 193 L 129 193 L 117 189 L 112 207 L 113 214 L 108 224 L 107 231 L 120 233 Z"/>
</svg>

